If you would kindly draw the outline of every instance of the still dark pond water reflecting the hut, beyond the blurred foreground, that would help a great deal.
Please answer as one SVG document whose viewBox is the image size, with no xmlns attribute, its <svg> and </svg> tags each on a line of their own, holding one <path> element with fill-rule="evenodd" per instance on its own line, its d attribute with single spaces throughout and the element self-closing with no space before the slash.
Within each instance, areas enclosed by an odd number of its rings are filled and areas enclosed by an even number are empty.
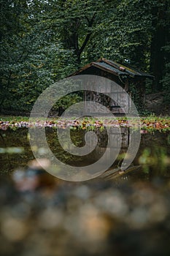
<svg viewBox="0 0 170 256">
<path fill-rule="evenodd" d="M 113 163 L 111 169 L 120 167 L 123 161 L 125 152 L 129 146 L 129 130 L 124 127 L 122 131 L 122 144 L 120 153 Z M 39 129 L 41 132 L 41 129 Z M 90 147 L 91 154 L 87 156 L 73 156 L 66 152 L 60 145 L 57 137 L 57 129 L 46 129 L 47 143 L 53 151 L 55 157 L 68 165 L 85 166 L 96 162 L 105 151 L 107 147 L 107 132 L 96 132 L 98 136 L 98 144 L 94 150 L 93 138 L 91 139 Z M 76 130 L 71 131 L 71 138 L 77 147 L 85 145 L 85 131 Z M 62 134 L 63 144 L 68 143 L 65 130 Z M 115 138 L 112 138 L 115 140 Z M 125 173 L 126 176 L 134 180 L 150 181 L 152 178 L 160 177 L 163 179 L 170 178 L 170 132 L 154 132 L 152 134 L 142 134 L 139 151 L 133 161 L 133 170 Z M 41 156 L 45 148 L 36 148 Z M 112 157 L 107 154 L 107 157 Z M 34 159 L 34 154 L 31 151 L 31 146 L 28 139 L 28 129 L 18 128 L 16 130 L 7 129 L 0 130 L 0 161 L 1 161 L 1 175 L 12 173 L 18 167 L 26 167 L 28 161 Z M 136 168 L 135 168 L 136 167 Z M 114 176 L 109 176 L 114 178 Z"/>
</svg>

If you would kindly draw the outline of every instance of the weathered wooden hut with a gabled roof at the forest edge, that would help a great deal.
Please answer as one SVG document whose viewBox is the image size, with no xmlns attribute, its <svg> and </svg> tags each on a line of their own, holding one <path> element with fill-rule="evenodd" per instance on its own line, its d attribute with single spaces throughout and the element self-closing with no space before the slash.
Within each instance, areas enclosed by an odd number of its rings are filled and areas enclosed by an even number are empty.
<svg viewBox="0 0 170 256">
<path fill-rule="evenodd" d="M 72 75 L 99 75 L 115 81 L 115 83 L 119 84 L 126 92 L 128 92 L 128 94 L 130 94 L 132 99 L 134 99 L 134 103 L 139 107 L 139 109 L 144 109 L 145 80 L 146 78 L 154 78 L 152 75 L 139 71 L 128 64 L 118 64 L 117 62 L 104 58 L 85 65 L 85 67 L 82 67 Z M 135 94 L 133 94 L 133 91 L 135 91 Z M 111 89 L 110 93 L 115 92 Z M 86 100 L 95 101 L 96 97 L 94 97 L 94 94 L 95 92 L 93 91 L 85 91 L 84 97 Z M 116 103 L 112 102 L 112 100 L 108 99 L 108 97 L 104 97 L 104 95 L 99 95 L 98 102 L 107 106 L 112 113 L 122 113 L 120 106 L 116 105 Z M 125 102 L 125 105 L 128 105 L 128 102 Z M 128 108 L 126 112 L 128 113 Z"/>
</svg>

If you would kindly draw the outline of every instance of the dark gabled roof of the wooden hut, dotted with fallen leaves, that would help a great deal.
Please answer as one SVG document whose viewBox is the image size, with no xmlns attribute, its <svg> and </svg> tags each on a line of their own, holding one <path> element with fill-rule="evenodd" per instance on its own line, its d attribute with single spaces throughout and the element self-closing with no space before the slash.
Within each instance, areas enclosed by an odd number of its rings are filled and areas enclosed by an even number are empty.
<svg viewBox="0 0 170 256">
<path fill-rule="evenodd" d="M 110 61 L 104 58 L 98 59 L 98 61 L 96 62 L 91 62 L 90 64 L 85 65 L 81 69 L 77 70 L 77 72 L 74 72 L 72 75 L 79 75 L 85 69 L 88 69 L 90 67 L 97 67 L 98 69 L 104 70 L 117 76 L 125 75 L 131 78 L 154 78 L 152 75 L 137 70 L 130 65 L 122 65 L 115 61 Z"/>
</svg>

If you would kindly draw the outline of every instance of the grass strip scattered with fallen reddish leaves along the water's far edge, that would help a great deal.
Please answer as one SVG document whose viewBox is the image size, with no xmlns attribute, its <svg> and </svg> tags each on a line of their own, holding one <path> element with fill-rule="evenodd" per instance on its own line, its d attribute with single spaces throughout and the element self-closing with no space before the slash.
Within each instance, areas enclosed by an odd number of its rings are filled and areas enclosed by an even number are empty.
<svg viewBox="0 0 170 256">
<path fill-rule="evenodd" d="M 96 123 L 98 122 L 98 125 L 101 127 L 104 124 L 104 126 L 109 127 L 113 123 L 119 124 L 120 127 L 128 126 L 128 121 L 130 121 L 130 124 L 134 127 L 141 127 L 142 130 L 147 130 L 147 132 L 154 132 L 156 130 L 159 130 L 160 132 L 167 132 L 170 131 L 170 116 L 161 117 L 161 116 L 142 116 L 140 117 L 140 121 L 136 117 L 127 117 L 127 116 L 117 116 L 115 118 L 111 118 L 110 116 L 100 116 L 100 117 L 82 117 L 82 118 L 76 118 L 73 116 L 72 118 L 69 118 L 69 120 L 72 122 L 75 119 L 79 120 L 80 129 L 95 129 L 97 127 Z M 68 118 L 60 118 L 61 122 L 64 123 L 64 121 L 69 121 Z M 0 116 L 1 122 L 7 122 L 9 124 L 20 123 L 21 121 L 29 121 L 28 116 Z M 37 121 L 45 121 L 45 118 L 32 118 L 31 122 L 37 122 Z M 51 122 L 53 124 L 58 123 L 58 117 L 57 118 L 47 118 L 47 122 Z M 90 127 L 89 127 L 90 125 Z M 103 126 L 103 128 L 104 128 Z"/>
</svg>

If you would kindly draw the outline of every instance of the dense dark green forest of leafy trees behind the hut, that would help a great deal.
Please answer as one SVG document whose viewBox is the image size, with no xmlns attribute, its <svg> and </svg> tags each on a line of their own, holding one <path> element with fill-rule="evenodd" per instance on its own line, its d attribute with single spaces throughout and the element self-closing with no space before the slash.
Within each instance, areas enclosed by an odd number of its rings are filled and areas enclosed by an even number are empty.
<svg viewBox="0 0 170 256">
<path fill-rule="evenodd" d="M 30 113 L 47 86 L 101 57 L 154 75 L 147 93 L 166 91 L 169 104 L 169 6 L 168 0 L 1 0 L 1 112 Z"/>
</svg>

